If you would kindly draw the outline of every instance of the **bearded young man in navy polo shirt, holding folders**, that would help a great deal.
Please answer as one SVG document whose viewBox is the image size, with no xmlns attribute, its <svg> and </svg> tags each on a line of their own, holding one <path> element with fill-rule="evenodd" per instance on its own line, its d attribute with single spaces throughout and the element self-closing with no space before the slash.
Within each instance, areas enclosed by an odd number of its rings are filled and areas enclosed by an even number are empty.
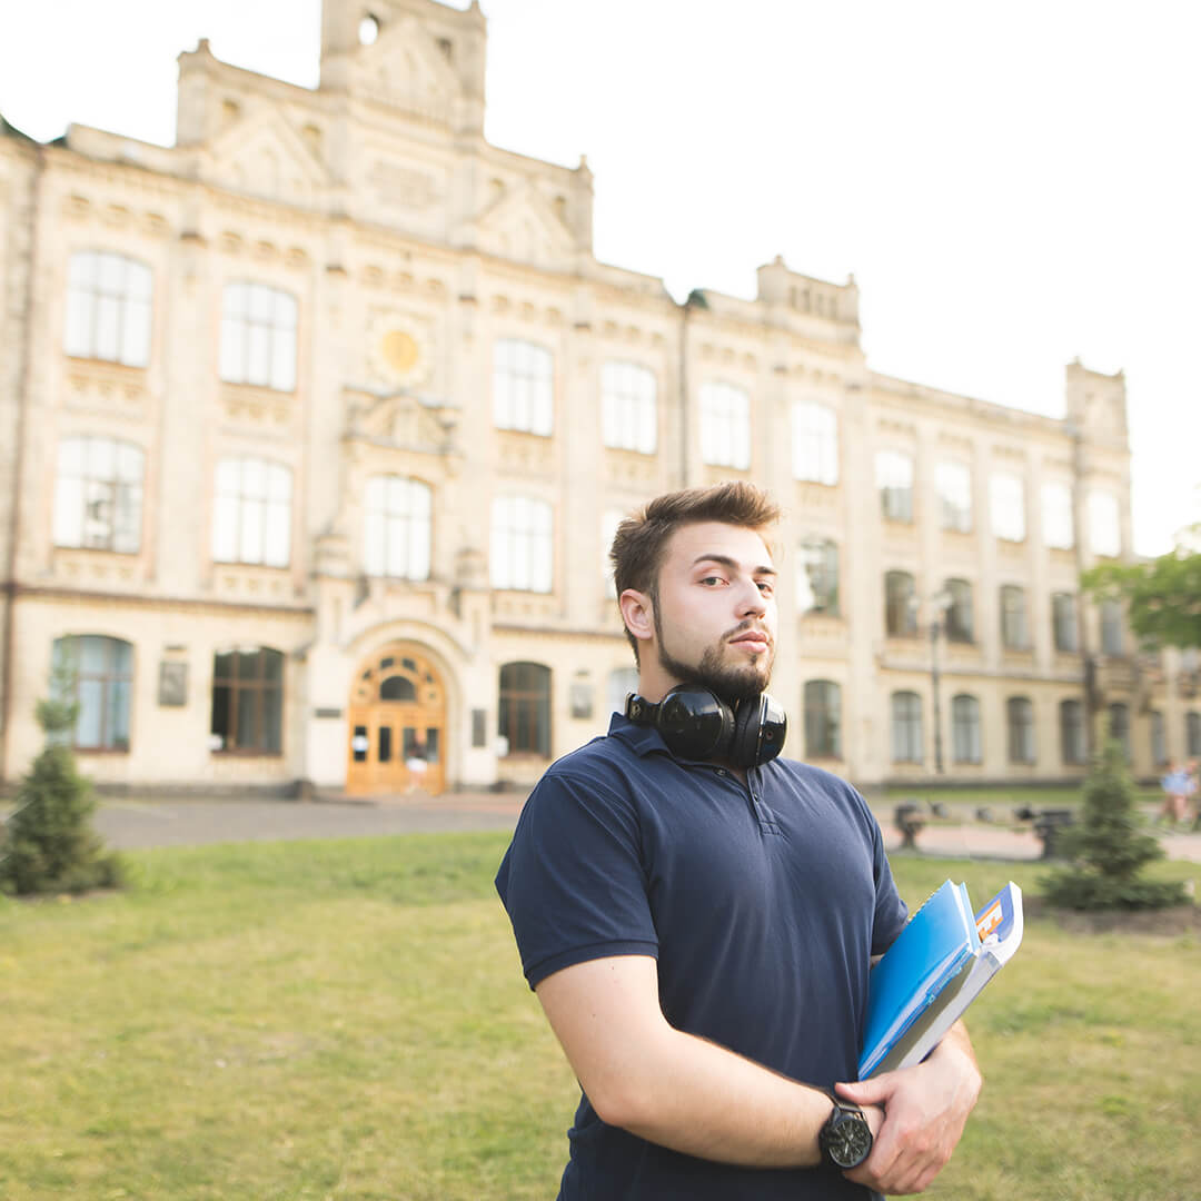
<svg viewBox="0 0 1201 1201">
<path fill-rule="evenodd" d="M 622 522 L 640 695 L 545 773 L 496 878 L 582 1089 L 562 1201 L 920 1191 L 980 1089 L 962 1026 L 924 1064 L 854 1083 L 868 968 L 906 908 L 862 797 L 764 749 L 782 733 L 760 697 L 777 520 L 722 484 Z M 735 735 L 698 754 L 718 703 Z M 667 716 L 685 711 L 681 741 Z"/>
</svg>

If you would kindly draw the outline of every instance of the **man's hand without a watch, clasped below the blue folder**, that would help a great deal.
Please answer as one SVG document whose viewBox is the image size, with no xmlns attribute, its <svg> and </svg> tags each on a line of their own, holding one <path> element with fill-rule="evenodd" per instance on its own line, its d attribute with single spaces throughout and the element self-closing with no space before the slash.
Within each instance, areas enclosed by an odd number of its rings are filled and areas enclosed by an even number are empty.
<svg viewBox="0 0 1201 1201">
<path fill-rule="evenodd" d="M 846 1173 L 847 1179 L 894 1196 L 921 1193 L 951 1158 L 980 1087 L 980 1070 L 962 1022 L 951 1027 L 925 1063 L 836 1085 L 839 1097 L 884 1109 L 878 1133 L 871 1123 L 872 1153 Z"/>
</svg>

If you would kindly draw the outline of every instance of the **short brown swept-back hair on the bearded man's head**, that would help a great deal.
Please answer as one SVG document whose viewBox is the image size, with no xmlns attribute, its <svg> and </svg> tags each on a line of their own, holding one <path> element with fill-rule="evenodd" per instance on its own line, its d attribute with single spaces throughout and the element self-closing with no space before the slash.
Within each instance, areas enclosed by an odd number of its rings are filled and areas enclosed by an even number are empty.
<svg viewBox="0 0 1201 1201">
<path fill-rule="evenodd" d="M 659 568 L 671 534 L 685 525 L 722 521 L 725 525 L 763 530 L 779 520 L 779 507 L 754 484 L 731 480 L 711 488 L 688 488 L 664 492 L 646 508 L 617 526 L 609 558 L 620 598 L 626 588 L 646 592 L 658 603 Z M 627 629 L 626 638 L 638 659 L 638 639 Z"/>
</svg>

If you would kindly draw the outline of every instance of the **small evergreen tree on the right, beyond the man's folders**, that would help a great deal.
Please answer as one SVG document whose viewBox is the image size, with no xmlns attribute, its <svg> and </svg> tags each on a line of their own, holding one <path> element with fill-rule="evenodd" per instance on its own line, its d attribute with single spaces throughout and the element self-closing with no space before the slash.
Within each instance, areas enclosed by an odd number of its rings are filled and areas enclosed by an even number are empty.
<svg viewBox="0 0 1201 1201">
<path fill-rule="evenodd" d="M 1074 862 L 1052 873 L 1044 896 L 1066 909 L 1163 909 L 1183 904 L 1178 882 L 1139 879 L 1142 868 L 1164 858 L 1164 848 L 1140 830 L 1125 753 L 1107 742 L 1085 783 L 1083 820 L 1059 833 L 1059 847 Z"/>
</svg>

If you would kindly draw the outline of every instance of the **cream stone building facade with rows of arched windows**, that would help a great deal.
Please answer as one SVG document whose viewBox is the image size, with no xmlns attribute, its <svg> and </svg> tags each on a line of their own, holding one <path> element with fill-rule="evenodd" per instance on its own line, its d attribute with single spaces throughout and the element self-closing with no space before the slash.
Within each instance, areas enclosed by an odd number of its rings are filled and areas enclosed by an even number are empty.
<svg viewBox="0 0 1201 1201">
<path fill-rule="evenodd" d="M 177 144 L 0 125 L 0 778 L 67 688 L 102 785 L 526 784 L 633 686 L 617 521 L 787 518 L 787 753 L 861 783 L 1201 752 L 1130 556 L 1125 386 L 1063 420 L 883 376 L 854 280 L 753 300 L 592 253 L 592 175 L 483 136 L 478 5 L 325 0 L 321 83 L 180 55 Z"/>
</svg>

